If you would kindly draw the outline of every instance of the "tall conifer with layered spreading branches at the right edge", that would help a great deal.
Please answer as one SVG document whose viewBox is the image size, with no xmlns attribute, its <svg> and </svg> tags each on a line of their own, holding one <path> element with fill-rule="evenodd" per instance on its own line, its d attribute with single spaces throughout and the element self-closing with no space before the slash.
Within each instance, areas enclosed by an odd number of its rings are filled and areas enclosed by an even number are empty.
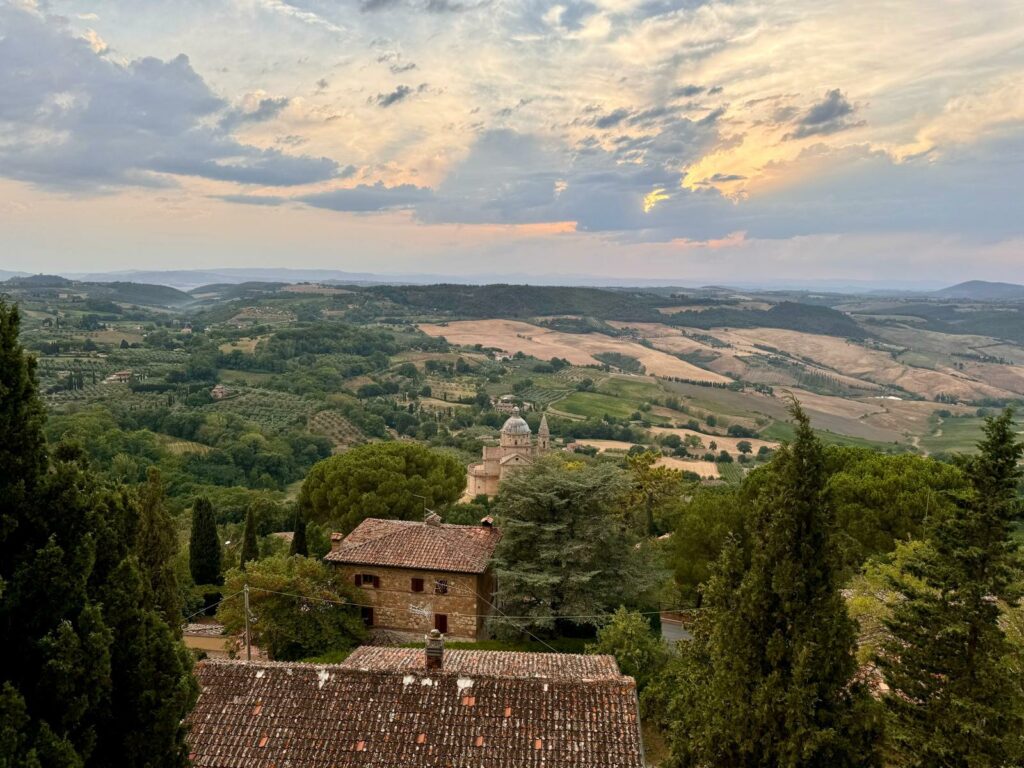
<svg viewBox="0 0 1024 768">
<path fill-rule="evenodd" d="M 1019 686 L 1002 664 L 999 603 L 1012 603 L 1022 445 L 1013 414 L 989 419 L 965 466 L 971 488 L 935 519 L 926 546 L 893 580 L 903 595 L 886 623 L 880 666 L 891 694 L 890 742 L 905 766 L 1017 764 L 1011 739 L 1024 729 Z M 921 586 L 921 583 L 924 586 Z M 1019 744 L 1018 744 L 1019 749 Z"/>
</svg>

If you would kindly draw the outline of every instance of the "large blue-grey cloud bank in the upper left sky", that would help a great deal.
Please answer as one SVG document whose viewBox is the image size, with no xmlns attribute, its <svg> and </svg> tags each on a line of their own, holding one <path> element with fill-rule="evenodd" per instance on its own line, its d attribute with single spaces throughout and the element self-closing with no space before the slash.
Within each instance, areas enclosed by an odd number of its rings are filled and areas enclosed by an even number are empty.
<svg viewBox="0 0 1024 768">
<path fill-rule="evenodd" d="M 328 158 L 245 144 L 230 132 L 283 103 L 241 113 L 188 58 L 127 65 L 97 54 L 65 22 L 0 5 L 0 174 L 69 188 L 168 183 L 157 174 L 294 185 L 334 177 Z"/>
</svg>

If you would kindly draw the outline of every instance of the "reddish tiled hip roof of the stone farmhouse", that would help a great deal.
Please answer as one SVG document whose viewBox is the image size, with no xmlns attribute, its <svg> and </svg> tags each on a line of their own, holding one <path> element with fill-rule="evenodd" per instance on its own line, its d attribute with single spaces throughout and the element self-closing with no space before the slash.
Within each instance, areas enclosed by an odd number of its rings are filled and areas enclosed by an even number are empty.
<svg viewBox="0 0 1024 768">
<path fill-rule="evenodd" d="M 502 535 L 484 525 L 427 525 L 368 517 L 324 558 L 352 565 L 482 573 Z"/>
</svg>

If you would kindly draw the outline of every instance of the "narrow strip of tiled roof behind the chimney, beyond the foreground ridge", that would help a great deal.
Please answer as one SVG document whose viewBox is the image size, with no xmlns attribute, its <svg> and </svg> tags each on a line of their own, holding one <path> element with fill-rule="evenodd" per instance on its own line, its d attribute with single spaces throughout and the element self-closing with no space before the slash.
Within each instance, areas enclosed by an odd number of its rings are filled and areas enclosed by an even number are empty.
<svg viewBox="0 0 1024 768">
<path fill-rule="evenodd" d="M 346 669 L 409 672 L 423 668 L 421 648 L 364 645 L 341 665 Z M 545 680 L 622 680 L 614 656 L 582 653 L 445 650 L 444 669 L 464 675 L 529 677 Z"/>
</svg>

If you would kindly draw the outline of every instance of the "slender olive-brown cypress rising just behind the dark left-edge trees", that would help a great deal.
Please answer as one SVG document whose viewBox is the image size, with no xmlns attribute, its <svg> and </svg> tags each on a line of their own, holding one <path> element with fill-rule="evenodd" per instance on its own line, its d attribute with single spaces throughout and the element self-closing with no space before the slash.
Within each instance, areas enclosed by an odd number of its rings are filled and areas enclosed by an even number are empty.
<svg viewBox="0 0 1024 768">
<path fill-rule="evenodd" d="M 174 571 L 177 553 L 174 522 L 164 504 L 164 481 L 160 471 L 151 467 L 139 495 L 138 538 L 134 554 L 153 592 L 154 605 L 170 627 L 181 624 L 181 593 Z"/>
</svg>

